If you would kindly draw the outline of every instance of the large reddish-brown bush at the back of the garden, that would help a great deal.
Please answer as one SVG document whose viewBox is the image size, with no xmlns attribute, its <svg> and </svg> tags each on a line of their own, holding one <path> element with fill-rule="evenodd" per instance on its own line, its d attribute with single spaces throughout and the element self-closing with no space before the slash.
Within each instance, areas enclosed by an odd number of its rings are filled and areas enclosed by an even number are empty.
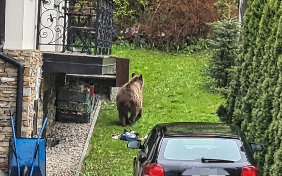
<svg viewBox="0 0 282 176">
<path fill-rule="evenodd" d="M 141 21 L 141 32 L 157 45 L 169 43 L 170 48 L 188 43 L 188 38 L 205 37 L 206 23 L 219 19 L 214 9 L 217 0 L 152 0 Z"/>
</svg>

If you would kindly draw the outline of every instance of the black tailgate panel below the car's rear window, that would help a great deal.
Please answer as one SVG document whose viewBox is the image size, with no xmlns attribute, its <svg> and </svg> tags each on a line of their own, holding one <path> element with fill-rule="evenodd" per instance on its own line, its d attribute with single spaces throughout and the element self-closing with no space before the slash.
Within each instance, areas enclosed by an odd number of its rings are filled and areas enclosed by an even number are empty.
<svg viewBox="0 0 282 176">
<path fill-rule="evenodd" d="M 158 161 L 163 165 L 165 176 L 188 176 L 188 175 L 230 175 L 240 176 L 242 167 L 249 165 L 248 162 L 240 163 L 202 163 L 193 161 Z"/>
</svg>

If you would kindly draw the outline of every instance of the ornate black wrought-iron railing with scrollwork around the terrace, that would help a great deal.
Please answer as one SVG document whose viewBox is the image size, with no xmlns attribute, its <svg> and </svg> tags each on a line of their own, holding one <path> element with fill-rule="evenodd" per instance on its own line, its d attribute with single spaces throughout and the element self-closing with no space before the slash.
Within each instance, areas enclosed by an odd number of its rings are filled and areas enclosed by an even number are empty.
<svg viewBox="0 0 282 176">
<path fill-rule="evenodd" d="M 114 0 L 81 2 L 39 0 L 37 49 L 111 55 Z"/>
</svg>

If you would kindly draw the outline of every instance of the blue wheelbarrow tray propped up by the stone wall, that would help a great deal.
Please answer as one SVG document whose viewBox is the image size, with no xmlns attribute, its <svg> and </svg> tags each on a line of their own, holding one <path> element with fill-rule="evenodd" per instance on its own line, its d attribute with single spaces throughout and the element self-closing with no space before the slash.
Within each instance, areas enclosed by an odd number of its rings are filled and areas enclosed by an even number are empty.
<svg viewBox="0 0 282 176">
<path fill-rule="evenodd" d="M 15 156 L 14 139 L 9 141 L 9 161 L 8 161 L 8 176 L 18 176 L 17 160 Z M 18 150 L 18 163 L 23 169 L 24 166 L 31 170 L 33 156 L 35 155 L 35 146 L 37 138 L 16 138 L 16 146 Z M 39 148 L 34 161 L 33 176 L 46 176 L 46 141 L 39 139 Z"/>
</svg>

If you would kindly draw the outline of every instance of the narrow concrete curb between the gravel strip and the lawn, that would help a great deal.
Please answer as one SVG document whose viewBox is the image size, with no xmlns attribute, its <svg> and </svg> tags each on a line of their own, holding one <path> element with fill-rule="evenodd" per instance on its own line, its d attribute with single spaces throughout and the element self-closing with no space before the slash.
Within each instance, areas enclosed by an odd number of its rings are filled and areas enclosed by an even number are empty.
<svg viewBox="0 0 282 176">
<path fill-rule="evenodd" d="M 84 144 L 84 148 L 82 150 L 82 154 L 81 154 L 81 157 L 80 157 L 80 160 L 79 160 L 79 164 L 78 164 L 77 169 L 76 169 L 75 176 L 79 176 L 79 174 L 80 174 L 80 170 L 81 170 L 81 167 L 82 167 L 82 162 L 83 162 L 84 157 L 86 155 L 86 152 L 87 152 L 87 149 L 88 149 L 88 145 L 89 145 L 89 141 L 90 141 L 90 138 L 92 136 L 92 133 L 93 133 L 93 130 L 94 130 L 97 118 L 98 118 L 98 114 L 99 114 L 99 111 L 100 111 L 100 108 L 101 108 L 101 103 L 102 103 L 102 101 L 98 99 L 98 106 L 97 106 L 97 108 L 95 110 L 95 114 L 94 114 L 94 117 L 93 117 L 93 120 L 92 120 L 92 124 L 91 124 L 90 130 L 89 130 L 86 142 Z"/>
</svg>

